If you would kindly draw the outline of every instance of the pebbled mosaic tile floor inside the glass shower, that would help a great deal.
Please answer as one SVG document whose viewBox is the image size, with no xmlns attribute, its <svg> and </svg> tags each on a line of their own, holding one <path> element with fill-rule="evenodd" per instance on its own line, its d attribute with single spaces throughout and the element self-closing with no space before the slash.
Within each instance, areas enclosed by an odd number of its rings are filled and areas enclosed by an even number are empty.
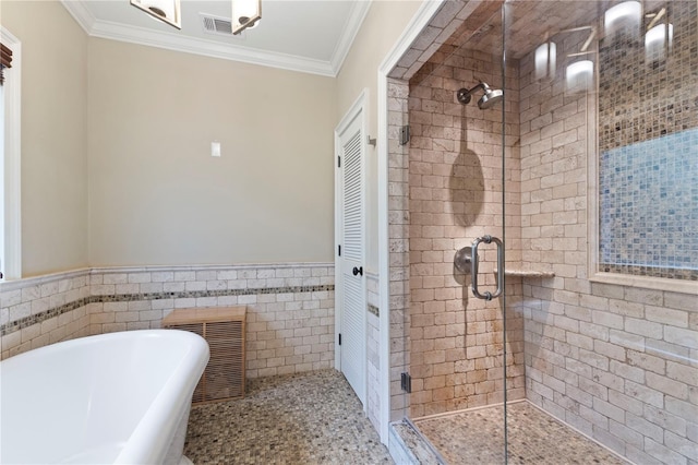
<svg viewBox="0 0 698 465">
<path fill-rule="evenodd" d="M 509 404 L 509 464 L 626 464 L 528 402 Z M 504 463 L 502 406 L 414 420 L 449 465 Z"/>
</svg>

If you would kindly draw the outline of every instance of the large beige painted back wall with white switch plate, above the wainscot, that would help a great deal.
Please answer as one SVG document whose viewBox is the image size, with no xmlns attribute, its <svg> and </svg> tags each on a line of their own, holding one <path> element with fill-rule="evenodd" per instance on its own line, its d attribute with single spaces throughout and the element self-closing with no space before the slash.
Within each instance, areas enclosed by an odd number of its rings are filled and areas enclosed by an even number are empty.
<svg viewBox="0 0 698 465">
<path fill-rule="evenodd" d="M 334 259 L 334 79 L 97 38 L 88 74 L 92 265 Z"/>
</svg>

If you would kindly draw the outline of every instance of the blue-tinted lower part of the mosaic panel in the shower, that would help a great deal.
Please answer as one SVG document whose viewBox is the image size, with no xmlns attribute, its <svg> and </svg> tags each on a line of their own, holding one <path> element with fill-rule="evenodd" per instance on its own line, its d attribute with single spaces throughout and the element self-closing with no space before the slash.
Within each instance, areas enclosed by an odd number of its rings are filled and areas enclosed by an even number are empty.
<svg viewBox="0 0 698 465">
<path fill-rule="evenodd" d="M 698 271 L 698 128 L 600 158 L 602 266 Z"/>
</svg>

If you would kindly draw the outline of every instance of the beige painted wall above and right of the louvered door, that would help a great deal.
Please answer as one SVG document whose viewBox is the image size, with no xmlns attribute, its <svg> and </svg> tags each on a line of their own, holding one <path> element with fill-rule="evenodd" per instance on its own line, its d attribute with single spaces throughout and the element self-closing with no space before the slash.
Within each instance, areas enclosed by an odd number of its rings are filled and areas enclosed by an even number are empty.
<svg viewBox="0 0 698 465">
<path fill-rule="evenodd" d="M 371 138 L 377 129 L 377 71 L 393 49 L 408 23 L 414 16 L 421 1 L 374 0 L 361 29 L 351 46 L 337 76 L 338 118 L 349 110 L 361 91 L 369 90 L 368 131 Z M 377 152 L 368 146 L 366 152 L 366 269 L 378 269 L 378 158 Z"/>
</svg>

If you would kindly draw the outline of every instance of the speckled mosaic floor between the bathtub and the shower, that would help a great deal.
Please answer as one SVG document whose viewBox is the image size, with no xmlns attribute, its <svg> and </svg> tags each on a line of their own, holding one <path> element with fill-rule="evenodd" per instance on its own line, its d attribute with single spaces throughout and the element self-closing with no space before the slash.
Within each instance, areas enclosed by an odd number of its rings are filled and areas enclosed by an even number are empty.
<svg viewBox="0 0 698 465">
<path fill-rule="evenodd" d="M 245 397 L 192 407 L 184 454 L 208 464 L 392 464 L 336 370 L 249 380 Z"/>
</svg>

